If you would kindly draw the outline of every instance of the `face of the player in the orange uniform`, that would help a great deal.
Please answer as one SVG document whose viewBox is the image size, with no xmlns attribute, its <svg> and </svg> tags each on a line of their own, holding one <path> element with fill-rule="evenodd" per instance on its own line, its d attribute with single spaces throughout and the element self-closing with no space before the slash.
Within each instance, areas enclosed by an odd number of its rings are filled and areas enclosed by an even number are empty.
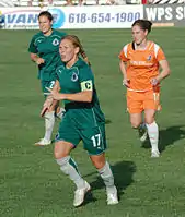
<svg viewBox="0 0 185 217">
<path fill-rule="evenodd" d="M 137 45 L 140 45 L 147 37 L 148 31 L 143 31 L 140 26 L 132 27 L 132 39 Z"/>
</svg>

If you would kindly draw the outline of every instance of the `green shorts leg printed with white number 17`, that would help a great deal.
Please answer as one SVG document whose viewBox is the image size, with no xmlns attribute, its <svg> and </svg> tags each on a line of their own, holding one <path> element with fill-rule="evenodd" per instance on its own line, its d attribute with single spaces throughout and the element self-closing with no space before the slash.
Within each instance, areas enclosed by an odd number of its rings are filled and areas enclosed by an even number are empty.
<svg viewBox="0 0 185 217">
<path fill-rule="evenodd" d="M 89 155 L 101 155 L 105 152 L 107 147 L 105 124 L 82 130 L 80 134 L 83 141 L 83 147 L 88 150 Z"/>
</svg>

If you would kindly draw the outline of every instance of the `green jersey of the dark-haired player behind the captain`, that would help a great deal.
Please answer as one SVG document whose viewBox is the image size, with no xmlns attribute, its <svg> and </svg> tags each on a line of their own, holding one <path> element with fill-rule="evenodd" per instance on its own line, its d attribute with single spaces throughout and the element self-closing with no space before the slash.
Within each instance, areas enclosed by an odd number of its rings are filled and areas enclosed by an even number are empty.
<svg viewBox="0 0 185 217">
<path fill-rule="evenodd" d="M 53 29 L 49 36 L 42 32 L 33 36 L 28 51 L 37 53 L 45 62 L 38 65 L 38 79 L 42 81 L 53 81 L 58 61 L 60 61 L 59 44 L 66 33 Z"/>
</svg>

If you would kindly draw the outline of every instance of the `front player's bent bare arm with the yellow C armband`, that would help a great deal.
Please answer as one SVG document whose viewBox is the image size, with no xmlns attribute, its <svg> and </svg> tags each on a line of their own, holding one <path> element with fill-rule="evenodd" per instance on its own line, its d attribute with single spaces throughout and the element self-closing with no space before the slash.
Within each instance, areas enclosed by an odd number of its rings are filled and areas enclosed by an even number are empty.
<svg viewBox="0 0 185 217">
<path fill-rule="evenodd" d="M 47 88 L 53 98 L 56 100 L 70 100 L 70 101 L 83 101 L 83 103 L 91 103 L 93 96 L 93 84 L 92 80 L 81 82 L 81 92 L 76 94 L 60 94 L 55 92 L 54 89 Z"/>
</svg>

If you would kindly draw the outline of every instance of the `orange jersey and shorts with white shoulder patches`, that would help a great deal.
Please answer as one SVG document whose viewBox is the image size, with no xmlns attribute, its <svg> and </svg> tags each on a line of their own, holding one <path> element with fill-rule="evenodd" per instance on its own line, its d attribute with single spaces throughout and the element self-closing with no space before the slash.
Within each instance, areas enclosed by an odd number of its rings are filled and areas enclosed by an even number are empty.
<svg viewBox="0 0 185 217">
<path fill-rule="evenodd" d="M 165 60 L 162 49 L 153 41 L 144 50 L 135 50 L 132 44 L 128 44 L 120 51 L 119 59 L 127 63 L 129 113 L 140 113 L 144 109 L 159 110 L 160 86 L 153 87 L 151 79 L 159 74 L 159 61 Z"/>
</svg>

